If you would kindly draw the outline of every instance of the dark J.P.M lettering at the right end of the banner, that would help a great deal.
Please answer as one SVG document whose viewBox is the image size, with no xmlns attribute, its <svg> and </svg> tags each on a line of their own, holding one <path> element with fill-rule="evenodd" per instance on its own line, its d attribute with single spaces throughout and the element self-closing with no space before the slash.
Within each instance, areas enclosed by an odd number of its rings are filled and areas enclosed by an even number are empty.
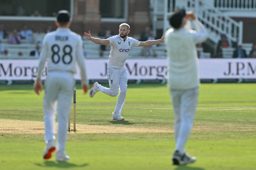
<svg viewBox="0 0 256 170">
<path fill-rule="evenodd" d="M 256 64 L 250 62 L 228 62 L 225 76 L 251 76 L 256 74 Z"/>
</svg>

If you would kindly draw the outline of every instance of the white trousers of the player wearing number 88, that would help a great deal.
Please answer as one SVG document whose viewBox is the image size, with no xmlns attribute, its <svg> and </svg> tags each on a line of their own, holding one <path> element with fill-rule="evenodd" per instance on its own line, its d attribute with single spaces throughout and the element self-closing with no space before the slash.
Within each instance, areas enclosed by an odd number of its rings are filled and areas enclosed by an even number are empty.
<svg viewBox="0 0 256 170">
<path fill-rule="evenodd" d="M 49 72 L 45 82 L 44 121 L 45 141 L 55 139 L 55 117 L 58 110 L 57 151 L 65 150 L 68 116 L 75 80 L 70 72 Z"/>
</svg>

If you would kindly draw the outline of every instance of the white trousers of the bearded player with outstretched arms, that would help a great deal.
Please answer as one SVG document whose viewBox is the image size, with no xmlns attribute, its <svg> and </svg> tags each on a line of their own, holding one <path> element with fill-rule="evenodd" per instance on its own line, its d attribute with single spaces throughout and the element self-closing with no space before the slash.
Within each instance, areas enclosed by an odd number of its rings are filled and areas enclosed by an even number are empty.
<svg viewBox="0 0 256 170">
<path fill-rule="evenodd" d="M 121 115 L 121 112 L 124 107 L 124 102 L 126 98 L 126 92 L 127 92 L 127 70 L 126 67 L 123 66 L 122 68 L 112 68 L 108 67 L 107 70 L 107 76 L 109 80 L 109 88 L 98 86 L 99 90 L 109 96 L 115 97 L 118 94 L 118 87 L 119 87 L 119 95 L 116 102 L 116 107 L 114 113 L 119 113 Z"/>
</svg>

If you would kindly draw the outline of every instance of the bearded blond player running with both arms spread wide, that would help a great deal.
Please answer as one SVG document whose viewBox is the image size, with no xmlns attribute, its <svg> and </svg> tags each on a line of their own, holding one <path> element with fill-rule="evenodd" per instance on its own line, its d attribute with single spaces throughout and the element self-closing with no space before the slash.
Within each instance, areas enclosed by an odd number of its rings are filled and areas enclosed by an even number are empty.
<svg viewBox="0 0 256 170">
<path fill-rule="evenodd" d="M 164 42 L 164 34 L 159 40 L 145 42 L 137 41 L 131 37 L 127 37 L 127 34 L 130 32 L 129 29 L 130 26 L 127 23 L 122 23 L 119 26 L 119 35 L 115 35 L 105 40 L 91 37 L 90 31 L 89 33 L 84 33 L 88 40 L 96 44 L 110 45 L 111 47 L 107 70 L 110 88 L 103 87 L 98 82 L 95 82 L 89 95 L 92 98 L 97 92 L 101 91 L 106 95 L 114 97 L 118 94 L 119 87 L 120 92 L 116 102 L 115 111 L 112 113 L 112 120 L 124 120 L 121 116 L 121 112 L 124 107 L 128 80 L 127 70 L 124 63 L 128 57 L 129 51 L 132 47 L 147 47 Z"/>
</svg>

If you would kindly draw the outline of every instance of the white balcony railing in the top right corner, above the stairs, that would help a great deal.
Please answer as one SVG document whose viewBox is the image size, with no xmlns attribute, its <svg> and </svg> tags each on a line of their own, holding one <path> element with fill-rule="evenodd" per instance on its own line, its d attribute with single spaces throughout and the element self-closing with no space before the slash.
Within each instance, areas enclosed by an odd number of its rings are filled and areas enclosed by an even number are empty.
<svg viewBox="0 0 256 170">
<path fill-rule="evenodd" d="M 215 0 L 219 10 L 256 10 L 256 0 Z"/>
</svg>

